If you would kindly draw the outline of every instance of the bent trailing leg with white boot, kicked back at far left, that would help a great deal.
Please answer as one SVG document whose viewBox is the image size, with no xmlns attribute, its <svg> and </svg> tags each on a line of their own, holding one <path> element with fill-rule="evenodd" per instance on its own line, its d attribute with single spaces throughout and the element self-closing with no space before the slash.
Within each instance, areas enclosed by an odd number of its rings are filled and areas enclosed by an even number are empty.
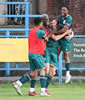
<svg viewBox="0 0 85 100">
<path fill-rule="evenodd" d="M 35 58 L 36 59 L 36 58 Z M 21 92 L 21 86 L 31 80 L 32 78 L 35 77 L 35 64 L 34 64 L 34 59 L 32 59 L 32 55 L 29 55 L 29 60 L 30 60 L 30 68 L 32 70 L 32 73 L 27 72 L 24 76 L 22 76 L 19 80 L 13 82 L 13 86 L 16 89 L 16 92 L 19 95 L 22 95 Z"/>
</svg>

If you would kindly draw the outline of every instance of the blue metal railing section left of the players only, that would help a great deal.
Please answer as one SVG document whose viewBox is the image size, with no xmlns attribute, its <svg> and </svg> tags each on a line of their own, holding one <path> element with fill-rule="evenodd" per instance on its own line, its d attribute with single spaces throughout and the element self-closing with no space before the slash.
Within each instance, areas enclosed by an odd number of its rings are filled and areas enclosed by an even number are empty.
<svg viewBox="0 0 85 100">
<path fill-rule="evenodd" d="M 41 15 L 30 15 L 29 14 L 29 2 L 0 2 L 0 4 L 24 4 L 25 5 L 25 15 L 0 15 L 0 17 L 25 17 L 25 28 L 0 28 L 0 31 L 5 31 L 5 35 L 0 35 L 0 38 L 28 38 L 29 33 L 29 18 L 40 17 Z M 25 35 L 10 35 L 10 31 L 24 31 Z M 5 68 L 0 68 L 0 70 L 5 70 L 5 75 L 10 75 L 11 70 L 30 70 L 30 68 L 18 68 L 18 63 L 16 63 L 16 68 L 10 68 L 10 63 L 5 63 Z"/>
</svg>

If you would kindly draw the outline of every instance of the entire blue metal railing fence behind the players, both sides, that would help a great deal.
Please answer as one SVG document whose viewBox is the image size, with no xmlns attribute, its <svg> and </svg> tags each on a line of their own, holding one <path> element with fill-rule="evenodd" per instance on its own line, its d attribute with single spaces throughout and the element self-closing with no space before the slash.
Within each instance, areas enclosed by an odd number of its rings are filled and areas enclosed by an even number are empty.
<svg viewBox="0 0 85 100">
<path fill-rule="evenodd" d="M 29 2 L 0 2 L 0 4 L 24 4 L 25 5 L 25 15 L 0 15 L 0 17 L 25 17 L 25 28 L 0 28 L 0 31 L 5 31 L 5 35 L 0 35 L 0 38 L 28 38 L 29 33 L 29 18 L 40 17 L 41 15 L 30 15 L 29 14 Z M 10 31 L 24 31 L 25 35 L 10 35 Z M 85 35 L 75 35 L 75 37 L 85 37 Z M 59 84 L 62 83 L 62 70 L 65 68 L 62 67 L 62 57 L 63 53 L 61 52 L 59 56 L 59 65 L 57 72 L 59 75 Z M 5 63 L 5 68 L 0 68 L 0 70 L 5 70 L 6 76 L 10 75 L 11 70 L 30 70 L 30 68 L 19 68 L 18 63 L 16 63 L 15 68 L 10 67 L 10 63 Z M 71 70 L 85 70 L 85 68 L 71 68 Z"/>
</svg>

